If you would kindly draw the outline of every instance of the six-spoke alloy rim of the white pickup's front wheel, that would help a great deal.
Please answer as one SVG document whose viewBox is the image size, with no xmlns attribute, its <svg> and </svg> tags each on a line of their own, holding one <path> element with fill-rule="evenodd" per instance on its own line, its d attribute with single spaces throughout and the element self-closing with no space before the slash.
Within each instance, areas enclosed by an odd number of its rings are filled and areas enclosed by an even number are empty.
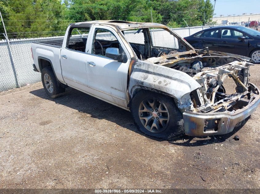
<svg viewBox="0 0 260 194">
<path fill-rule="evenodd" d="M 158 98 L 150 97 L 139 106 L 139 118 L 143 126 L 152 133 L 164 131 L 169 124 L 169 111 Z"/>
</svg>

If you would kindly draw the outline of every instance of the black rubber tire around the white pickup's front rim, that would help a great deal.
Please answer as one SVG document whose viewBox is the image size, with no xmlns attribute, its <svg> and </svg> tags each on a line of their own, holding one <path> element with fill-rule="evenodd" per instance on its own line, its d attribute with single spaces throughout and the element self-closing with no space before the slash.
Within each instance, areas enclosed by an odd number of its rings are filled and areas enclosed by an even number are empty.
<svg viewBox="0 0 260 194">
<path fill-rule="evenodd" d="M 145 102 L 147 99 L 154 99 L 154 100 L 158 99 L 159 104 L 163 103 L 166 106 L 165 110 L 168 110 L 167 115 L 169 114 L 169 117 L 168 117 L 169 120 L 166 121 L 166 122 L 168 122 L 168 124 L 165 125 L 165 129 L 162 129 L 163 131 L 152 132 L 153 131 L 152 128 L 154 128 L 154 127 L 151 127 L 150 128 L 151 131 L 149 131 L 144 126 L 146 123 L 143 124 L 146 121 L 140 119 L 140 117 L 141 117 L 140 115 L 142 115 L 142 112 L 139 112 L 139 108 L 143 106 L 143 104 L 141 105 L 141 103 Z M 149 108 L 151 108 L 151 106 Z M 142 108 L 140 108 L 140 109 L 142 109 Z M 152 110 L 152 109 L 150 109 L 150 110 Z M 174 103 L 174 99 L 172 97 L 169 97 L 169 96 L 166 96 L 163 94 L 159 94 L 159 93 L 155 93 L 155 92 L 151 92 L 148 90 L 141 90 L 134 95 L 131 105 L 130 105 L 130 111 L 132 113 L 136 127 L 139 129 L 139 131 L 145 133 L 146 135 L 150 135 L 153 137 L 157 137 L 160 139 L 166 139 L 166 140 L 175 139 L 175 138 L 178 138 L 178 137 L 184 135 L 182 113 L 176 107 L 176 105 Z M 157 111 L 159 112 L 159 108 L 157 109 Z M 154 116 L 154 113 L 155 112 L 153 112 L 151 116 Z M 149 116 L 148 112 L 147 113 L 145 112 L 144 114 L 147 114 L 146 116 Z M 151 114 L 151 112 L 150 112 L 150 114 Z M 162 116 L 162 113 L 161 113 L 161 116 Z M 158 119 L 158 118 L 156 117 L 156 119 Z M 155 122 L 154 120 L 155 119 L 153 119 L 151 122 L 152 123 Z M 162 127 L 161 124 L 160 124 L 160 126 Z M 154 128 L 154 129 L 157 130 L 156 128 Z"/>
</svg>

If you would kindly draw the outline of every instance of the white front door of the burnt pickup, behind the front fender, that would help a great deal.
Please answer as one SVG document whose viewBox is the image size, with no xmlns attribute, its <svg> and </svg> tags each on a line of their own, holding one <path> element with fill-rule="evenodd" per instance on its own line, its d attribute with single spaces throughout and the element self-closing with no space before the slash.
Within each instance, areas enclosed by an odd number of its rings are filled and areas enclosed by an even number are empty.
<svg viewBox="0 0 260 194">
<path fill-rule="evenodd" d="M 97 26 L 92 29 L 92 36 L 87 60 L 87 78 L 90 93 L 126 108 L 127 77 L 130 54 L 114 29 Z M 125 53 L 127 60 L 118 62 L 106 57 L 107 48 L 118 48 Z"/>
</svg>

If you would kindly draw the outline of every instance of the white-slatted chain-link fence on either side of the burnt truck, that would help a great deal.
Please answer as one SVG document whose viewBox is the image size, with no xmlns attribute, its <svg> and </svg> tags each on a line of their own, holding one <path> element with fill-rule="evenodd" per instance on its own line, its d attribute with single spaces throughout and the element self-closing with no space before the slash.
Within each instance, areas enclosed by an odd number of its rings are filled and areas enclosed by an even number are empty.
<svg viewBox="0 0 260 194">
<path fill-rule="evenodd" d="M 206 28 L 209 28 L 209 26 L 176 28 L 173 30 L 183 38 Z M 17 87 L 15 76 L 17 76 L 18 85 L 20 87 L 41 81 L 41 74 L 35 72 L 32 68 L 33 59 L 30 51 L 31 43 L 47 40 L 62 40 L 63 38 L 64 36 L 54 36 L 47 38 L 45 37 L 9 40 L 10 49 L 14 60 L 14 68 L 17 72 L 16 75 L 14 74 L 14 71 L 12 69 L 10 55 L 8 51 L 8 44 L 6 40 L 0 40 L 0 91 Z"/>
</svg>

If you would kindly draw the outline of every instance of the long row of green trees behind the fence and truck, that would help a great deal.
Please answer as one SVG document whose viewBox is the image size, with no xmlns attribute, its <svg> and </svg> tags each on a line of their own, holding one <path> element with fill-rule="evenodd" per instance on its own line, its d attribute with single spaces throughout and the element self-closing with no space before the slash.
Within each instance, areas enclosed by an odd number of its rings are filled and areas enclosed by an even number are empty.
<svg viewBox="0 0 260 194">
<path fill-rule="evenodd" d="M 210 0 L 1 0 L 0 10 L 9 37 L 21 38 L 64 35 L 70 23 L 90 20 L 208 25 L 213 5 Z"/>
</svg>

